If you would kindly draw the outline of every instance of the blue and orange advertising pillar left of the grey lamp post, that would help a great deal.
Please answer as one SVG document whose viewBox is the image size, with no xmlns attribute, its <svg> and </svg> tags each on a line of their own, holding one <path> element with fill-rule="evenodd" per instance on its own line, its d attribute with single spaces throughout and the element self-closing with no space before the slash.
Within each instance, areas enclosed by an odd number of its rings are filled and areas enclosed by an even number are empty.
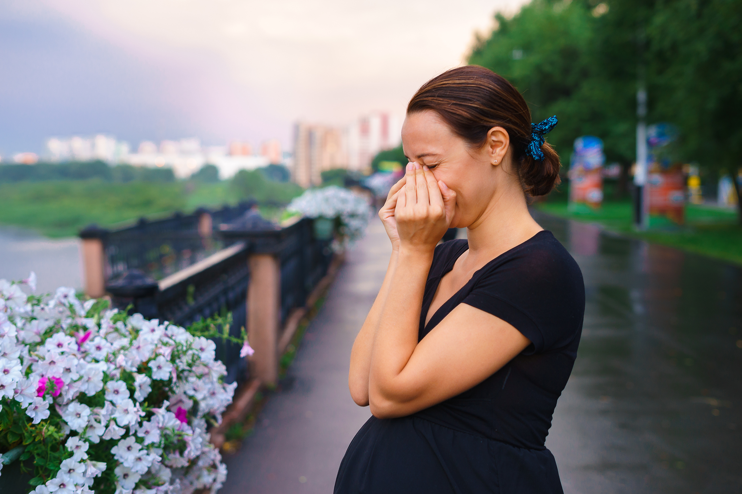
<svg viewBox="0 0 742 494">
<path fill-rule="evenodd" d="M 603 203 L 603 141 L 595 136 L 574 140 L 569 165 L 569 206 L 573 213 L 591 213 Z"/>
</svg>

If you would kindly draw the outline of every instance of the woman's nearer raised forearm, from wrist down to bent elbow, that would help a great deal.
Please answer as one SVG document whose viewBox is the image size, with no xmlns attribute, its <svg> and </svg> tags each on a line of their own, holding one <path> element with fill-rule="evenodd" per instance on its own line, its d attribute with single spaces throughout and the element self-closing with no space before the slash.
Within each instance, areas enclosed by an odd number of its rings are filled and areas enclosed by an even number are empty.
<svg viewBox="0 0 742 494">
<path fill-rule="evenodd" d="M 406 397 L 398 390 L 414 394 L 409 383 L 400 385 L 398 381 L 418 344 L 420 310 L 432 260 L 433 250 L 403 249 L 399 254 L 373 338 L 369 375 L 372 409 L 387 400 L 404 401 Z"/>
</svg>

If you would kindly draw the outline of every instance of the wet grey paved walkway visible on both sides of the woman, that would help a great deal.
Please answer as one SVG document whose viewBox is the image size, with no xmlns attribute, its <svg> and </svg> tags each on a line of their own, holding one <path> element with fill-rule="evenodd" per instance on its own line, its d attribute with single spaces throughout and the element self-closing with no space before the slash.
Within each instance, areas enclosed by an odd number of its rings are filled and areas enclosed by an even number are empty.
<svg viewBox="0 0 742 494">
<path fill-rule="evenodd" d="M 742 268 L 534 216 L 580 264 L 587 295 L 547 438 L 565 493 L 741 493 Z M 373 222 L 255 433 L 226 458 L 221 494 L 332 492 L 369 416 L 349 397 L 348 359 L 389 251 Z"/>
</svg>

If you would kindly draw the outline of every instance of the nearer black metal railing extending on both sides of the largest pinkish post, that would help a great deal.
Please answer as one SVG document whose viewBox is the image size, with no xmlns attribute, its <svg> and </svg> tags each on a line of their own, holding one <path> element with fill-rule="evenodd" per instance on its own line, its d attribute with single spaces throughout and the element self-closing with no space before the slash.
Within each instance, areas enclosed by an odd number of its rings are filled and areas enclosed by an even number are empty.
<svg viewBox="0 0 742 494">
<path fill-rule="evenodd" d="M 240 222 L 223 224 L 215 236 L 229 245 L 203 260 L 156 281 L 143 270 L 129 269 L 108 284 L 114 305 L 134 305 L 145 318 L 187 326 L 200 318 L 232 313 L 230 334 L 246 326 L 250 284 L 249 256 L 272 254 L 280 263 L 280 322 L 292 309 L 304 307 L 312 289 L 332 261 L 330 241 L 315 238 L 313 220 L 302 218 L 278 230 L 244 230 Z M 110 242 L 110 240 L 109 240 Z M 239 345 L 215 341 L 217 358 L 226 365 L 226 382 L 247 378 Z"/>
</svg>

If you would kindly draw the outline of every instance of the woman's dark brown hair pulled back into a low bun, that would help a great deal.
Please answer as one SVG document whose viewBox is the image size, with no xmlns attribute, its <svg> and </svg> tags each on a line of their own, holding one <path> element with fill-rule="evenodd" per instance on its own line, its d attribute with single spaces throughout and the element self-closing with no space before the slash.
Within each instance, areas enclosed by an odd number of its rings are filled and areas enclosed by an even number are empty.
<svg viewBox="0 0 742 494">
<path fill-rule="evenodd" d="M 523 96 L 502 76 L 477 65 L 447 70 L 418 89 L 407 114 L 433 110 L 457 136 L 481 147 L 492 127 L 510 135 L 513 167 L 530 196 L 544 196 L 559 184 L 559 155 L 544 143 L 544 159 L 525 152 L 531 141 L 531 110 Z"/>
</svg>

